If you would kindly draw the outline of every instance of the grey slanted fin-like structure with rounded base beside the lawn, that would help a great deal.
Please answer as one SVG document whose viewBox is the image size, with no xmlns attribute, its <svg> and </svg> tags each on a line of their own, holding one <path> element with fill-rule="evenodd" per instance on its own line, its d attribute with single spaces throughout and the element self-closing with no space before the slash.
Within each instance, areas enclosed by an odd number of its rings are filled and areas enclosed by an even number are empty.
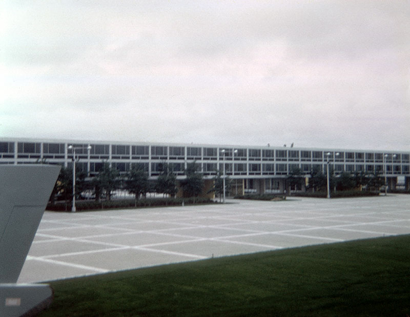
<svg viewBox="0 0 410 317">
<path fill-rule="evenodd" d="M 0 316 L 30 315 L 52 301 L 47 284 L 16 284 L 60 166 L 0 165 Z"/>
</svg>

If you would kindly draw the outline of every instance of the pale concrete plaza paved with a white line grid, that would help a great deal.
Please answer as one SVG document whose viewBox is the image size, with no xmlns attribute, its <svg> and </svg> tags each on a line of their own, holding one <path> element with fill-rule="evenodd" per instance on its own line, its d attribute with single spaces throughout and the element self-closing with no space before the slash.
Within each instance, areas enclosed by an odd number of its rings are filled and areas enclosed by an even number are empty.
<svg viewBox="0 0 410 317">
<path fill-rule="evenodd" d="M 18 283 L 410 234 L 410 195 L 45 212 Z"/>
</svg>

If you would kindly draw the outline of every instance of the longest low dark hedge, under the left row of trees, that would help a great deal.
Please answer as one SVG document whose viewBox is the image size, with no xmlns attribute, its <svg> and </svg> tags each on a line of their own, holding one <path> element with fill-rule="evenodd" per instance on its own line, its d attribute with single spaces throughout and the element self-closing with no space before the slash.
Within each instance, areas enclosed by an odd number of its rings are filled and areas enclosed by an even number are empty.
<svg viewBox="0 0 410 317">
<path fill-rule="evenodd" d="M 139 199 L 135 205 L 135 200 L 79 200 L 75 202 L 75 208 L 77 211 L 81 210 L 98 210 L 98 209 L 124 209 L 124 208 L 144 208 L 144 207 L 157 207 L 157 206 L 177 206 L 184 204 L 193 204 L 194 199 L 191 198 L 150 198 Z M 209 198 L 196 197 L 195 204 L 209 204 L 214 203 Z M 52 210 L 55 212 L 69 212 L 71 211 L 71 202 L 66 204 L 64 202 L 58 202 L 55 204 L 48 203 L 46 210 Z"/>
</svg>

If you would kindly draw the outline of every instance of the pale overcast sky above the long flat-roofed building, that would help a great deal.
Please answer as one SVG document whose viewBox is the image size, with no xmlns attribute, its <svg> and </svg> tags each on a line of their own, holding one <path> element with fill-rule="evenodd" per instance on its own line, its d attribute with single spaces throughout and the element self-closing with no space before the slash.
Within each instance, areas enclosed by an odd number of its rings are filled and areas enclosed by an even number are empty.
<svg viewBox="0 0 410 317">
<path fill-rule="evenodd" d="M 408 0 L 1 6 L 0 137 L 410 150 Z"/>
</svg>

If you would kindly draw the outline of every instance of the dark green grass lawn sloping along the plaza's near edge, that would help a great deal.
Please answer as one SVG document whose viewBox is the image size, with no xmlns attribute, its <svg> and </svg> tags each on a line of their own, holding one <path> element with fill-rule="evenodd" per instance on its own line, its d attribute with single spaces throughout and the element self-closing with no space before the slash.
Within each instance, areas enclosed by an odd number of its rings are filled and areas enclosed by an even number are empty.
<svg viewBox="0 0 410 317">
<path fill-rule="evenodd" d="M 406 317 L 410 315 L 410 235 L 50 284 L 54 302 L 41 316 Z"/>
</svg>

